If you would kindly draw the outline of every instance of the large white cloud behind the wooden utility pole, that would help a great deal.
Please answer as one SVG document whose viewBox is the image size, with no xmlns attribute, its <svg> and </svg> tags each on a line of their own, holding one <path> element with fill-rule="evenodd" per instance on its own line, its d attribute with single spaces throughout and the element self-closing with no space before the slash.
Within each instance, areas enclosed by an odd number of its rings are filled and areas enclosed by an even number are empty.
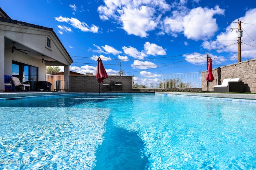
<svg viewBox="0 0 256 170">
<path fill-rule="evenodd" d="M 251 37 L 256 37 L 256 31 L 252 29 L 252 25 L 243 23 L 245 21 L 250 21 L 250 23 L 256 23 L 256 8 L 248 10 L 245 16 L 239 18 L 242 21 L 242 30 L 243 37 L 242 37 L 242 58 L 250 59 L 255 57 L 256 49 L 255 49 L 255 41 L 252 41 Z M 226 31 L 220 33 L 217 36 L 215 41 L 204 41 L 202 43 L 202 47 L 205 49 L 216 49 L 224 46 L 228 46 L 226 48 L 222 48 L 218 50 L 218 52 L 229 52 L 230 60 L 237 60 L 238 59 L 238 45 L 233 43 L 237 43 L 238 34 L 236 33 L 237 29 L 233 31 L 230 28 L 238 28 L 238 19 L 234 20 L 230 25 L 226 27 Z M 249 36 L 250 35 L 250 36 Z M 255 38 L 254 38 L 255 40 Z M 248 44 L 248 45 L 246 45 Z M 231 45 L 231 46 L 229 46 Z M 254 46 L 254 47 L 252 47 Z"/>
</svg>

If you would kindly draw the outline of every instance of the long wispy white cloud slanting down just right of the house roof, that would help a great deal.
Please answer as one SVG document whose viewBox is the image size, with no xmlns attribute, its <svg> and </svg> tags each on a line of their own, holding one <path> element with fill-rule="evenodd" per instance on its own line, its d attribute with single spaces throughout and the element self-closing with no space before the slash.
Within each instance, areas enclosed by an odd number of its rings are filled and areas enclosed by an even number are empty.
<svg viewBox="0 0 256 170">
<path fill-rule="evenodd" d="M 76 18 L 65 18 L 65 17 L 59 16 L 59 17 L 55 17 L 55 20 L 59 22 L 66 22 L 72 25 L 74 28 L 80 29 L 83 32 L 97 33 L 99 29 L 99 27 L 93 24 L 91 27 L 89 27 L 86 23 L 81 22 Z"/>
</svg>

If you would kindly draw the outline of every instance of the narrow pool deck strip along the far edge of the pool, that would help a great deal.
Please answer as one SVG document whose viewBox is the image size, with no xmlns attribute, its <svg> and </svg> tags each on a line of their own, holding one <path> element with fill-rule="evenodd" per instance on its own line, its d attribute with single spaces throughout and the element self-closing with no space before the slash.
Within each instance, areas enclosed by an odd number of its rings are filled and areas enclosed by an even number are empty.
<svg viewBox="0 0 256 170">
<path fill-rule="evenodd" d="M 53 96 L 53 95 L 67 95 L 67 94 L 98 94 L 98 92 L 0 92 L 0 99 L 14 99 L 32 96 Z M 100 94 L 114 94 L 114 93 L 146 93 L 146 92 L 100 92 Z M 152 93 L 152 92 L 151 92 Z M 155 92 L 157 94 L 174 94 L 185 96 L 202 96 L 202 97 L 215 97 L 215 98 L 234 98 L 234 99 L 249 99 L 256 100 L 256 94 L 243 94 L 243 93 L 208 93 L 208 92 Z"/>
</svg>

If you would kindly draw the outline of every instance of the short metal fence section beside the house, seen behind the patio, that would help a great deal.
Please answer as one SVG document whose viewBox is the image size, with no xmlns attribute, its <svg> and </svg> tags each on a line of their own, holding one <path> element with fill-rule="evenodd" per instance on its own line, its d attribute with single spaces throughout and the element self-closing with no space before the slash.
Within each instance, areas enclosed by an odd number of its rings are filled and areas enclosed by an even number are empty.
<svg viewBox="0 0 256 170">
<path fill-rule="evenodd" d="M 65 89 L 65 83 L 67 82 L 64 80 L 63 75 L 47 75 L 46 81 L 52 83 L 51 91 L 67 91 L 67 89 Z"/>
</svg>

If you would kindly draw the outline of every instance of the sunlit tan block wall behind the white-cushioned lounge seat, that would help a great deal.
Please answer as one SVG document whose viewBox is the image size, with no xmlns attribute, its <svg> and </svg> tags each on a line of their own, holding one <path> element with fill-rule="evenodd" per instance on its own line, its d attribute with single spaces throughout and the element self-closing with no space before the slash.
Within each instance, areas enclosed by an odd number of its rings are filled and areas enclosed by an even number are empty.
<svg viewBox="0 0 256 170">
<path fill-rule="evenodd" d="M 256 59 L 215 68 L 212 74 L 215 80 L 209 82 L 209 91 L 213 91 L 213 86 L 221 85 L 225 78 L 240 77 L 244 82 L 244 92 L 256 92 Z M 206 75 L 207 71 L 202 72 L 202 91 L 207 90 Z"/>
</svg>

